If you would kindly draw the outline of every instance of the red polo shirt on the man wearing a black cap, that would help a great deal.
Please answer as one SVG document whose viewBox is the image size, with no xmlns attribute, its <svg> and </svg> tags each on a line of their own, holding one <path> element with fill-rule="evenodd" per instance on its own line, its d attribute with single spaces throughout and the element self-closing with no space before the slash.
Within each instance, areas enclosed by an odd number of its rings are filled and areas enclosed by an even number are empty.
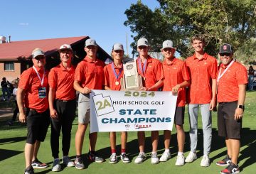
<svg viewBox="0 0 256 174">
<path fill-rule="evenodd" d="M 217 77 L 227 68 L 223 64 L 220 65 Z M 228 70 L 223 74 L 218 82 L 217 99 L 218 102 L 234 102 L 238 101 L 239 87 L 238 85 L 247 84 L 247 70 L 239 62 L 233 62 Z"/>
</svg>

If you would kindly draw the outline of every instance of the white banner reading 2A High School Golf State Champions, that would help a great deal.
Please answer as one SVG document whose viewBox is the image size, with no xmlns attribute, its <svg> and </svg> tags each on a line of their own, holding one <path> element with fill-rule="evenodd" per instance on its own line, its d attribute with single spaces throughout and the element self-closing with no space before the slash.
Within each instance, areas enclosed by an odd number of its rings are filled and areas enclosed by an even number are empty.
<svg viewBox="0 0 256 174">
<path fill-rule="evenodd" d="M 172 130 L 176 100 L 171 92 L 92 90 L 90 132 Z"/>
</svg>

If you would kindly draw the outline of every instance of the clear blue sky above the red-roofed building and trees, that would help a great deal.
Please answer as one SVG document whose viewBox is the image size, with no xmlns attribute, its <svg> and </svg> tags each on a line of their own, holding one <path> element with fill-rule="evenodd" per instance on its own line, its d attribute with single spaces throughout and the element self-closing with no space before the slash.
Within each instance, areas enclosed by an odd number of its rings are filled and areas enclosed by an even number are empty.
<svg viewBox="0 0 256 174">
<path fill-rule="evenodd" d="M 11 36 L 11 41 L 90 36 L 110 54 L 114 43 L 122 43 L 127 53 L 128 35 L 132 57 L 133 33 L 124 26 L 124 11 L 135 3 L 137 0 L 1 1 L 0 36 Z M 159 6 L 156 0 L 142 3 L 153 10 Z"/>
</svg>

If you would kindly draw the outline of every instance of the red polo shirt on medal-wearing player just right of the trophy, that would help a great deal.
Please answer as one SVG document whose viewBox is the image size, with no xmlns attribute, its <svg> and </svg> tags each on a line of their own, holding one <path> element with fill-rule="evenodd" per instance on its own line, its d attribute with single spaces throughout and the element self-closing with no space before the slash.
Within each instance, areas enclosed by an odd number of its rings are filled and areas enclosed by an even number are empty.
<svg viewBox="0 0 256 174">
<path fill-rule="evenodd" d="M 142 69 L 144 63 L 141 61 Z M 139 58 L 137 58 L 137 70 L 139 75 L 142 75 L 145 80 L 143 80 L 143 85 L 146 88 L 152 87 L 156 84 L 159 80 L 164 79 L 164 72 L 161 62 L 155 58 L 151 58 L 150 56 L 147 58 L 146 62 L 146 70 L 143 73 L 143 70 L 139 68 Z M 156 89 L 157 90 L 157 89 Z"/>
</svg>

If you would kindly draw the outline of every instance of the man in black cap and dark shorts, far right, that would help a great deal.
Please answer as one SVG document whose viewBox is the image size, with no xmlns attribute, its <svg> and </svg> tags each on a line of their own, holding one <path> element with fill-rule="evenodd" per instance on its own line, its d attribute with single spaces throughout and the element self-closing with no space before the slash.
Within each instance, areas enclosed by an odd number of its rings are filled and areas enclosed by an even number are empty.
<svg viewBox="0 0 256 174">
<path fill-rule="evenodd" d="M 221 45 L 219 56 L 222 63 L 217 74 L 218 135 L 225 137 L 228 154 L 222 161 L 218 161 L 216 164 L 220 166 L 228 165 L 220 173 L 239 173 L 238 156 L 247 85 L 247 70 L 239 62 L 233 60 L 231 45 Z"/>
</svg>

